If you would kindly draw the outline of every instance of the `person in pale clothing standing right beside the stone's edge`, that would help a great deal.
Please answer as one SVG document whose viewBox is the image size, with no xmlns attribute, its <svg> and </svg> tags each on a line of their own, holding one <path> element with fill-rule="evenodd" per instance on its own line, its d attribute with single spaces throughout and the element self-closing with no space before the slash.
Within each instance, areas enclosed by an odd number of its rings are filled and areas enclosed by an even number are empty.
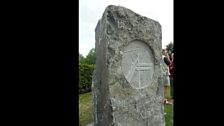
<svg viewBox="0 0 224 126">
<path fill-rule="evenodd" d="M 163 85 L 164 85 L 164 98 L 165 98 L 165 103 L 168 103 L 167 99 L 167 92 L 168 92 L 168 87 L 170 86 L 170 80 L 169 80 L 169 65 L 170 65 L 170 60 L 166 54 L 166 50 L 162 50 L 162 61 L 161 61 L 161 69 L 162 69 L 162 74 L 163 74 Z"/>
</svg>

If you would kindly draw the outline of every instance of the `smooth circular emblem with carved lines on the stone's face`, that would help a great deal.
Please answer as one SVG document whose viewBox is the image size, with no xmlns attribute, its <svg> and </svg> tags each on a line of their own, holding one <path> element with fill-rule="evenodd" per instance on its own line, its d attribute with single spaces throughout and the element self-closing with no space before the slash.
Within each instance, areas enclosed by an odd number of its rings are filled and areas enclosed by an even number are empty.
<svg viewBox="0 0 224 126">
<path fill-rule="evenodd" d="M 124 48 L 121 67 L 132 88 L 146 88 L 151 83 L 154 73 L 151 49 L 142 41 L 132 41 Z"/>
</svg>

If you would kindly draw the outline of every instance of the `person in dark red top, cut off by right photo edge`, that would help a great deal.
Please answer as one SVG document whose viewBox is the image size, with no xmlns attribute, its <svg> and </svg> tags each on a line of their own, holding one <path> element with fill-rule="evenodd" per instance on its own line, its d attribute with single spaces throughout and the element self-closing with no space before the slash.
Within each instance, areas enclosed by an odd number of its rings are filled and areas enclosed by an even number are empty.
<svg viewBox="0 0 224 126">
<path fill-rule="evenodd" d="M 173 102 L 173 96 L 174 96 L 174 53 L 171 53 L 171 63 L 169 65 L 169 72 L 170 72 L 170 96 L 171 96 L 171 102 Z"/>
</svg>

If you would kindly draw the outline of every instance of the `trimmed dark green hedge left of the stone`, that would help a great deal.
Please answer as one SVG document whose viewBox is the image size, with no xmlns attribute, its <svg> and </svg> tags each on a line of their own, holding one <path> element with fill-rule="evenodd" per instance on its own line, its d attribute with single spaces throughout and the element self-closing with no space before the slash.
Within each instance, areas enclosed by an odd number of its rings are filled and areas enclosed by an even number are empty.
<svg viewBox="0 0 224 126">
<path fill-rule="evenodd" d="M 79 93 L 91 91 L 94 65 L 79 64 Z"/>
</svg>

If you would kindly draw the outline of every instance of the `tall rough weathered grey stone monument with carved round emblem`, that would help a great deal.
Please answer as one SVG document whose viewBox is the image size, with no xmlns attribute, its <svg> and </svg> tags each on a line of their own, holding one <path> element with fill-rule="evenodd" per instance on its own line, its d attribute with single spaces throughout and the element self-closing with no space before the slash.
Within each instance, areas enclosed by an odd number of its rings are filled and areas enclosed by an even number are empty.
<svg viewBox="0 0 224 126">
<path fill-rule="evenodd" d="M 110 5 L 95 33 L 94 126 L 165 126 L 161 25 Z"/>
</svg>

